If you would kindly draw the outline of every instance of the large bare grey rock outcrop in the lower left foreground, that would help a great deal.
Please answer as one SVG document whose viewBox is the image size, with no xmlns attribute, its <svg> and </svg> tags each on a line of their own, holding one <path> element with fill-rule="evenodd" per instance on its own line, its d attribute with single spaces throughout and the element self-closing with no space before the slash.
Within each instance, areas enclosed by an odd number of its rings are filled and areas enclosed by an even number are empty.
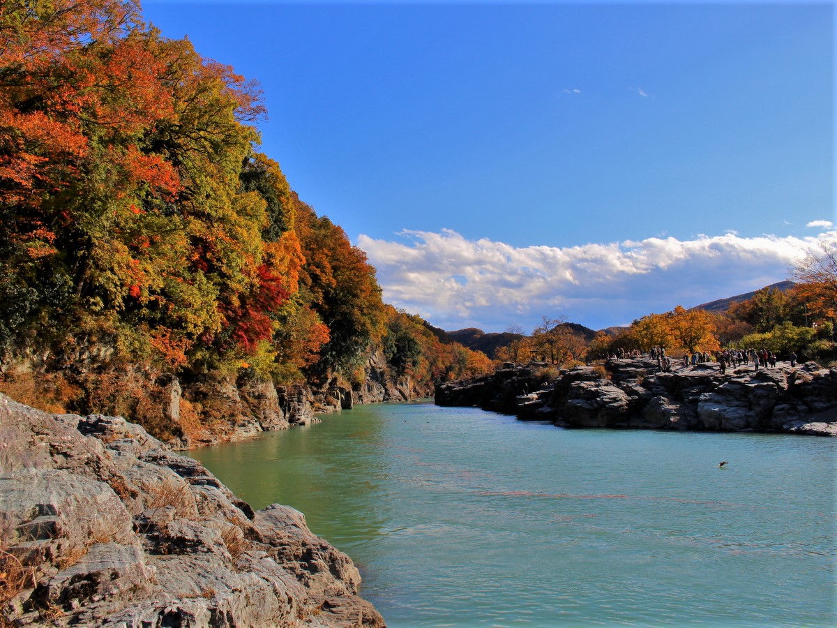
<svg viewBox="0 0 837 628">
<path fill-rule="evenodd" d="M 123 419 L 3 395 L 0 543 L 0 625 L 384 625 L 300 512 L 253 512 Z"/>
</svg>

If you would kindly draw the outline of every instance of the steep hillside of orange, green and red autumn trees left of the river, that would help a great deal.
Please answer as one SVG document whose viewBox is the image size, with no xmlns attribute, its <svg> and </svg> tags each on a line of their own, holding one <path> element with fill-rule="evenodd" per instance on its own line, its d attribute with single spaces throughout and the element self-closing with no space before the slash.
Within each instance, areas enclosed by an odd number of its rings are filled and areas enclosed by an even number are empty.
<svg viewBox="0 0 837 628">
<path fill-rule="evenodd" d="M 0 32 L 4 392 L 142 419 L 157 401 L 137 391 L 177 378 L 203 391 L 200 421 L 208 380 L 350 389 L 373 363 L 411 386 L 487 367 L 385 306 L 362 250 L 255 150 L 252 81 L 135 2 L 8 3 Z"/>
</svg>

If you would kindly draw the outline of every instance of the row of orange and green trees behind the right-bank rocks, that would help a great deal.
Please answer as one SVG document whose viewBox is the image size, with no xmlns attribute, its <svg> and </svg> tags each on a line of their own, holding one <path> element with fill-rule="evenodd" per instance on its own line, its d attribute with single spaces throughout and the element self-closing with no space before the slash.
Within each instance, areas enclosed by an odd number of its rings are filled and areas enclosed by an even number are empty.
<svg viewBox="0 0 837 628">
<path fill-rule="evenodd" d="M 778 355 L 791 351 L 803 358 L 834 358 L 837 319 L 837 246 L 823 244 L 794 268 L 793 287 L 764 288 L 727 311 L 686 310 L 676 306 L 661 314 L 635 320 L 617 333 L 598 332 L 588 339 L 565 319 L 543 317 L 526 336 L 501 347 L 497 358 L 511 362 L 530 359 L 570 365 L 614 354 L 619 349 L 646 353 L 665 347 L 670 355 L 715 353 L 721 348 L 765 348 Z"/>
</svg>

